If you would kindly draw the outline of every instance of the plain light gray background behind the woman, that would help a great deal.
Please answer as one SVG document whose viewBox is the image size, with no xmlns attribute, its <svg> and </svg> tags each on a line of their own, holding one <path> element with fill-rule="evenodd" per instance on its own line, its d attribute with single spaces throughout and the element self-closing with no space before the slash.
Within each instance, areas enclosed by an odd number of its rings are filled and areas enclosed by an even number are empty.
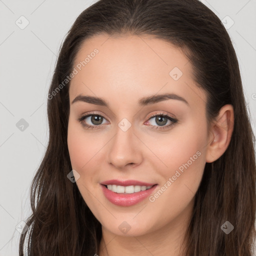
<svg viewBox="0 0 256 256">
<path fill-rule="evenodd" d="M 46 99 L 56 55 L 92 2 L 0 0 L 0 256 L 18 255 L 17 224 L 30 214 L 29 186 L 48 140 Z M 255 133 L 256 0 L 202 2 L 226 23 Z"/>
</svg>

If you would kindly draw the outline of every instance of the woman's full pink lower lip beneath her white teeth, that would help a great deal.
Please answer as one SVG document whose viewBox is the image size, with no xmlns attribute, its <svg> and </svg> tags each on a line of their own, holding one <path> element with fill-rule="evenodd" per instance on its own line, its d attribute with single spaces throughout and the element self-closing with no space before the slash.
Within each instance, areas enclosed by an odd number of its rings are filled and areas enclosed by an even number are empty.
<svg viewBox="0 0 256 256">
<path fill-rule="evenodd" d="M 152 191 L 157 187 L 157 184 L 153 185 L 151 188 L 146 189 L 144 191 L 134 192 L 131 194 L 124 193 L 115 193 L 109 189 L 107 189 L 104 185 L 100 184 L 103 190 L 105 197 L 113 204 L 119 206 L 131 206 L 140 201 L 143 201 L 146 197 L 148 197 Z"/>
</svg>

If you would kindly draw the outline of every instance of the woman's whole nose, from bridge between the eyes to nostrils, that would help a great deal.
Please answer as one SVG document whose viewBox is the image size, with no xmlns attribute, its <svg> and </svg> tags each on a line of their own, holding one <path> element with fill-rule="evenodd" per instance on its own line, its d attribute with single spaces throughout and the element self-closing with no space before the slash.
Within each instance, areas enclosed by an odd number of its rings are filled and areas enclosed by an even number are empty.
<svg viewBox="0 0 256 256">
<path fill-rule="evenodd" d="M 108 162 L 117 168 L 122 168 L 128 163 L 138 164 L 141 161 L 141 152 L 135 142 L 137 139 L 132 123 L 127 118 L 122 118 L 117 123 L 116 134 L 112 138 L 108 152 Z"/>
</svg>

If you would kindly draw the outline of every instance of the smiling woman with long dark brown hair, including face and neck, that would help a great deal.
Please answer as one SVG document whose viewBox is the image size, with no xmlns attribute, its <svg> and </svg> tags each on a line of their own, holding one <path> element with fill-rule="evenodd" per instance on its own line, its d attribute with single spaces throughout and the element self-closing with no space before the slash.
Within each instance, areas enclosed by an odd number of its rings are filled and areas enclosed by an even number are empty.
<svg viewBox="0 0 256 256">
<path fill-rule="evenodd" d="M 254 136 L 238 61 L 198 0 L 99 0 L 48 93 L 23 255 L 250 255 Z"/>
</svg>

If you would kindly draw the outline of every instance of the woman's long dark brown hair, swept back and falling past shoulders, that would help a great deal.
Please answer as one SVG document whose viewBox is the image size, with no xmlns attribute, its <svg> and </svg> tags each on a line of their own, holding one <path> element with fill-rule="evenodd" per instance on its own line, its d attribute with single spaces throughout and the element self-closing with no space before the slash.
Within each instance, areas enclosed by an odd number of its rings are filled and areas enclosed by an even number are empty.
<svg viewBox="0 0 256 256">
<path fill-rule="evenodd" d="M 207 121 L 232 104 L 234 127 L 226 151 L 206 163 L 186 232 L 187 256 L 251 256 L 255 239 L 254 135 L 247 114 L 237 57 L 219 18 L 198 0 L 99 0 L 76 18 L 61 45 L 48 94 L 49 141 L 30 187 L 29 256 L 94 255 L 101 224 L 67 174 L 69 82 L 81 43 L 96 34 L 152 35 L 183 50 L 193 79 L 207 95 Z M 100 54 L 100 53 L 99 53 Z M 60 88 L 60 87 L 58 87 Z M 53 93 L 55 91 L 55 93 Z M 226 234 L 221 225 L 234 229 Z"/>
</svg>

